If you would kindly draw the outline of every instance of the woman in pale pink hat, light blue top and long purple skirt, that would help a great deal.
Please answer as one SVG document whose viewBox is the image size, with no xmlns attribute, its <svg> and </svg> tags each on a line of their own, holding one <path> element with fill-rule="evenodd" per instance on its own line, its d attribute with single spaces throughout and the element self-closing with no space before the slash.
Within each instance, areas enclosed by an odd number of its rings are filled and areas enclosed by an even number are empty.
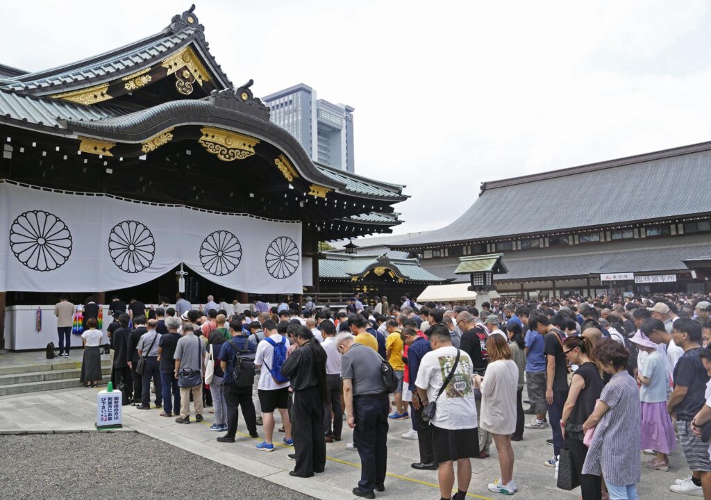
<svg viewBox="0 0 711 500">
<path fill-rule="evenodd" d="M 651 332 L 650 332 L 651 333 Z M 666 360 L 657 351 L 657 345 L 649 339 L 644 329 L 638 330 L 631 339 L 640 351 L 649 353 L 639 367 L 637 380 L 641 383 L 641 441 L 642 450 L 654 450 L 656 458 L 644 463 L 648 469 L 669 470 L 667 455 L 676 449 L 674 427 L 667 412 L 667 394 L 671 381 L 667 374 Z"/>
</svg>

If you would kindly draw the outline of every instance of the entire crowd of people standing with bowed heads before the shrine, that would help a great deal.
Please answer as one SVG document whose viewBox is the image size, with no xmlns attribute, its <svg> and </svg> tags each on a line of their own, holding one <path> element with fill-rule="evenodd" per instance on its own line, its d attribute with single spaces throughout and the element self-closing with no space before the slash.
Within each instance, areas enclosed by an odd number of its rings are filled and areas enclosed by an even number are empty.
<svg viewBox="0 0 711 500">
<path fill-rule="evenodd" d="M 212 297 L 202 310 L 181 300 L 148 318 L 131 304 L 112 309 L 112 380 L 124 404 L 150 409 L 152 383 L 161 416 L 189 424 L 191 401 L 198 422 L 212 407 L 220 442 L 235 441 L 241 410 L 264 452 L 274 450 L 278 410 L 293 476 L 324 472 L 326 444 L 341 441 L 345 423 L 362 466 L 353 494 L 375 498 L 385 491 L 388 422 L 410 420 L 402 438 L 418 442 L 412 467 L 437 470 L 443 500 L 466 496 L 470 459 L 488 458 L 492 443 L 500 477 L 488 489 L 510 495 L 511 442 L 550 427 L 552 457 L 541 466 L 573 477 L 584 500 L 637 499 L 641 467 L 668 470 L 677 441 L 690 474 L 670 491 L 711 498 L 707 297 L 509 299 L 479 309 L 409 297 L 373 307 L 356 294 L 337 310 L 306 297 L 304 306 L 257 300 L 241 313 Z M 87 366 L 87 385 L 95 369 Z"/>
</svg>

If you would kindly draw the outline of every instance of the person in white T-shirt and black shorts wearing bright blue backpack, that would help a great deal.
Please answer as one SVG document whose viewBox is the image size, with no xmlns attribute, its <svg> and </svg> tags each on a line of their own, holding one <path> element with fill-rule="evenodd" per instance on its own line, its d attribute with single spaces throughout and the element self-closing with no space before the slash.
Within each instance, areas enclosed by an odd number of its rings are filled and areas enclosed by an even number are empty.
<svg viewBox="0 0 711 500">
<path fill-rule="evenodd" d="M 273 452 L 274 443 L 274 410 L 278 409 L 282 415 L 282 425 L 284 426 L 284 442 L 291 446 L 292 424 L 289 422 L 289 378 L 282 375 L 282 366 L 287 361 L 287 349 L 289 340 L 277 332 L 277 324 L 271 319 L 264 321 L 262 325 L 267 337 L 257 345 L 255 355 L 255 368 L 266 370 L 260 375 L 259 398 L 262 410 L 262 420 L 264 421 L 264 441 L 257 445 L 257 450 L 263 452 Z"/>
</svg>

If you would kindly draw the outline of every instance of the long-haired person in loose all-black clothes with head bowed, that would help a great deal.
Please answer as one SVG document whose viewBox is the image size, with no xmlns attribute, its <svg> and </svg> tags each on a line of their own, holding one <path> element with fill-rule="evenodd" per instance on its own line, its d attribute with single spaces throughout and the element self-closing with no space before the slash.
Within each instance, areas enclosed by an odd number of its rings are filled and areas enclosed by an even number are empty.
<svg viewBox="0 0 711 500">
<path fill-rule="evenodd" d="M 296 345 L 282 366 L 294 390 L 292 422 L 296 465 L 290 476 L 313 477 L 326 467 L 324 404 L 326 403 L 326 351 L 306 326 L 296 326 Z"/>
</svg>

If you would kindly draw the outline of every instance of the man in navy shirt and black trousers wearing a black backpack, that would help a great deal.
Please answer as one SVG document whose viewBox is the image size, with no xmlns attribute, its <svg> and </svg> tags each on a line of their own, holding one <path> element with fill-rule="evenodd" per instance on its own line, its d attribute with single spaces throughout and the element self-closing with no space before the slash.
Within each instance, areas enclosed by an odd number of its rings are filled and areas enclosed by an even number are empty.
<svg viewBox="0 0 711 500">
<path fill-rule="evenodd" d="M 223 393 L 227 405 L 227 434 L 218 437 L 218 442 L 235 442 L 239 422 L 237 407 L 242 408 L 242 417 L 245 418 L 250 437 L 259 437 L 255 405 L 252 402 L 257 348 L 247 339 L 240 321 L 232 321 L 230 330 L 232 338 L 222 345 L 219 356 L 220 366 L 225 372 Z"/>
</svg>

